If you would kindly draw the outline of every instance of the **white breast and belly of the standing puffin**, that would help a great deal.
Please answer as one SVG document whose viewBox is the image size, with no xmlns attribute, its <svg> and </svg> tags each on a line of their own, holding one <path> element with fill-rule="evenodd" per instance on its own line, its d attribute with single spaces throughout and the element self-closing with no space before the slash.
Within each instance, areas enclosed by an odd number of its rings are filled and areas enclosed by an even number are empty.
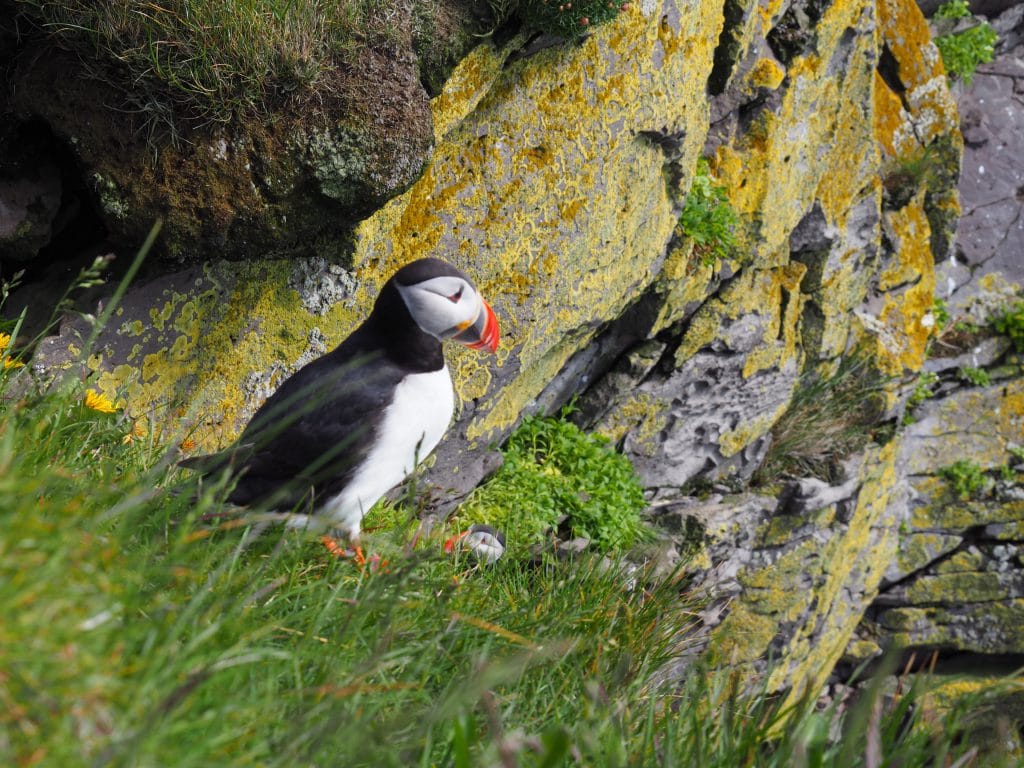
<svg viewBox="0 0 1024 768">
<path fill-rule="evenodd" d="M 367 458 L 345 489 L 327 501 L 322 513 L 338 527 L 358 535 L 362 515 L 434 450 L 453 413 L 455 392 L 446 366 L 402 379 Z"/>
</svg>

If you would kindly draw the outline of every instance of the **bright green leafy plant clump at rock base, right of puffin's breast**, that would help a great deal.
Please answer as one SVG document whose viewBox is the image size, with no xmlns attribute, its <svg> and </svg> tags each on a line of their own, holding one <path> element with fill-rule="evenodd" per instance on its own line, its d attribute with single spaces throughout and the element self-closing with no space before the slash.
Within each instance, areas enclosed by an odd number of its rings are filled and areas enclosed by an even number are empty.
<svg viewBox="0 0 1024 768">
<path fill-rule="evenodd" d="M 566 517 L 573 536 L 603 552 L 628 549 L 644 535 L 643 486 L 629 459 L 600 435 L 531 417 L 503 454 L 502 468 L 460 507 L 460 520 L 496 525 L 520 551 Z"/>
</svg>

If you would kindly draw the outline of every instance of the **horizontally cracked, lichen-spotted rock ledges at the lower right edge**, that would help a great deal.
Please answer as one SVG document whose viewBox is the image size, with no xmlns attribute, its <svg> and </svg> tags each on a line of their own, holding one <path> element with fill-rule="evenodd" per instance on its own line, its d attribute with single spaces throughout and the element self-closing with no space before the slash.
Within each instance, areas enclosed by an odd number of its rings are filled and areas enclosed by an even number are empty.
<svg viewBox="0 0 1024 768">
<path fill-rule="evenodd" d="M 898 468 L 911 487 L 895 559 L 863 631 L 883 644 L 1024 651 L 1024 378 L 962 388 L 926 402 L 902 438 Z M 990 475 L 956 486 L 969 461 Z M 946 476 L 942 476 L 943 472 Z"/>
</svg>

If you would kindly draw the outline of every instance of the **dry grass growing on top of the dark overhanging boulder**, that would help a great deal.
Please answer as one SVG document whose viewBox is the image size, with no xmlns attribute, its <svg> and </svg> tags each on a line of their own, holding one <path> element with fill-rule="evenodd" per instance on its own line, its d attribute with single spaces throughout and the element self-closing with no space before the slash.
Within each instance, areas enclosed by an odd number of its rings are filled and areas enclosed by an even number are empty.
<svg viewBox="0 0 1024 768">
<path fill-rule="evenodd" d="M 140 112 L 226 122 L 299 98 L 337 95 L 370 47 L 404 44 L 399 0 L 15 0 L 15 7 L 91 74 L 119 84 Z M 430 0 L 417 0 L 431 6 Z M 420 15 L 424 15 L 420 13 Z"/>
</svg>

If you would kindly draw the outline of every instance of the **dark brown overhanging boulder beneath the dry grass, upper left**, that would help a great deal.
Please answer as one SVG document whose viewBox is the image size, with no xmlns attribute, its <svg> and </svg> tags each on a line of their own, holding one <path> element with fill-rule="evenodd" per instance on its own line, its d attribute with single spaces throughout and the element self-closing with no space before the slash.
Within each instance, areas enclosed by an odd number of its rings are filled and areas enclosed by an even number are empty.
<svg viewBox="0 0 1024 768">
<path fill-rule="evenodd" d="M 157 252 L 178 263 L 336 256 L 359 219 L 420 175 L 434 141 L 421 76 L 436 78 L 439 59 L 468 38 L 463 0 L 435 4 L 433 34 L 419 29 L 411 3 L 390 5 L 400 7 L 384 9 L 385 30 L 371 27 L 354 52 L 324 67 L 315 99 L 281 95 L 289 83 L 271 82 L 266 90 L 279 95 L 250 119 L 179 114 L 173 101 L 34 38 L 22 19 L 27 42 L 11 56 L 0 127 L 48 127 L 119 249 L 137 247 L 160 218 Z"/>
</svg>

